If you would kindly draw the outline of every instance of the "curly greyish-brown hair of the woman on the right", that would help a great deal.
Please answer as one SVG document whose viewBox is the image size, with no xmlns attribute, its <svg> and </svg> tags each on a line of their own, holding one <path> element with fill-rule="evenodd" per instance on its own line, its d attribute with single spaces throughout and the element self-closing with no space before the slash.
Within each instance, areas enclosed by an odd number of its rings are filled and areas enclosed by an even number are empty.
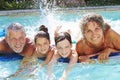
<svg viewBox="0 0 120 80">
<path fill-rule="evenodd" d="M 95 13 L 88 13 L 84 15 L 80 21 L 80 28 L 82 34 L 84 34 L 85 27 L 87 26 L 88 22 L 96 22 L 102 28 L 103 32 L 105 32 L 108 29 L 108 26 L 106 25 L 107 23 L 104 22 L 101 15 Z"/>
</svg>

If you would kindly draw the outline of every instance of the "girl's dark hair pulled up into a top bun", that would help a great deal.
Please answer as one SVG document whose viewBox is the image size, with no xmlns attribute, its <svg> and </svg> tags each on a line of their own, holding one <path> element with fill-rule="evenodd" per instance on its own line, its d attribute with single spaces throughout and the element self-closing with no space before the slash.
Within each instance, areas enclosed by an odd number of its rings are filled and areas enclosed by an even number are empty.
<svg viewBox="0 0 120 80">
<path fill-rule="evenodd" d="M 50 36 L 49 36 L 49 33 L 48 33 L 48 28 L 47 27 L 45 27 L 44 25 L 41 25 L 40 27 L 39 27 L 39 31 L 38 31 L 38 33 L 35 35 L 35 38 L 34 38 L 34 42 L 36 43 L 36 40 L 38 39 L 38 38 L 46 38 L 46 39 L 48 39 L 49 41 L 50 41 Z"/>
</svg>

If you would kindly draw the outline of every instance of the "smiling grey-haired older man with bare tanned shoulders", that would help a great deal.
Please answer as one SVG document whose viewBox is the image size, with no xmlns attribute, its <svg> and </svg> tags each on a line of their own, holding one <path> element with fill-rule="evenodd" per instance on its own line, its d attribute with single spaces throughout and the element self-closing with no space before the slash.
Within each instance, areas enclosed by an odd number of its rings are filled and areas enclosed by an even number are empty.
<svg viewBox="0 0 120 80">
<path fill-rule="evenodd" d="M 33 43 L 26 37 L 23 26 L 12 23 L 6 29 L 6 35 L 0 41 L 1 53 L 19 53 L 22 56 L 31 56 L 35 50 Z"/>
</svg>

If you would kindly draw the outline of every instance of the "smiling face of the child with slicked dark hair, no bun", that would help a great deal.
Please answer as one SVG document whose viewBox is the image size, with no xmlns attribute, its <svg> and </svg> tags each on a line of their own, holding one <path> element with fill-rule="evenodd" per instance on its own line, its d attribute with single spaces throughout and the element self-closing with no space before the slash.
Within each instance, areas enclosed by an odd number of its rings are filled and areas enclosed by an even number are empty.
<svg viewBox="0 0 120 80">
<path fill-rule="evenodd" d="M 72 47 L 72 45 L 70 44 L 70 42 L 67 39 L 64 39 L 64 40 L 58 42 L 56 45 L 58 53 L 64 58 L 66 58 L 70 55 L 71 47 Z"/>
</svg>

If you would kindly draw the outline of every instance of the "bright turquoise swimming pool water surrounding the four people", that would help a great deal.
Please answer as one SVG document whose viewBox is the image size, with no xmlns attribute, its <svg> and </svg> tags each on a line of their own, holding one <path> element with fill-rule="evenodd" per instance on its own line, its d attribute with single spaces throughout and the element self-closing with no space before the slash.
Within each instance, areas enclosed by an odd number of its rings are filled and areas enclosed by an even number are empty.
<svg viewBox="0 0 120 80">
<path fill-rule="evenodd" d="M 48 15 L 17 15 L 17 16 L 0 16 L 0 31 L 4 32 L 4 29 L 12 22 L 19 22 L 25 26 L 26 33 L 29 37 L 33 39 L 35 32 L 37 32 L 38 27 L 42 24 L 46 25 L 49 29 L 52 44 L 53 41 L 53 31 L 54 29 L 62 25 L 62 31 L 70 29 L 72 34 L 73 43 L 81 37 L 79 34 L 79 20 L 81 16 L 87 12 L 53 12 Z M 112 28 L 120 33 L 120 11 L 100 11 L 96 12 L 101 14 L 105 21 L 108 22 Z M 78 37 L 79 36 L 79 37 Z M 0 79 L 14 73 L 20 65 L 21 60 L 12 61 L 0 61 Z M 39 61 L 40 63 L 41 61 Z M 58 62 L 54 66 L 53 75 L 54 80 L 62 75 L 63 70 L 66 68 L 67 63 Z M 46 66 L 42 68 L 36 76 L 38 79 L 22 79 L 22 80 L 48 80 L 47 79 Z M 120 56 L 112 57 L 105 64 L 81 64 L 77 63 L 67 80 L 119 80 L 120 78 Z M 17 77 L 11 80 L 21 80 L 21 77 Z"/>
</svg>

